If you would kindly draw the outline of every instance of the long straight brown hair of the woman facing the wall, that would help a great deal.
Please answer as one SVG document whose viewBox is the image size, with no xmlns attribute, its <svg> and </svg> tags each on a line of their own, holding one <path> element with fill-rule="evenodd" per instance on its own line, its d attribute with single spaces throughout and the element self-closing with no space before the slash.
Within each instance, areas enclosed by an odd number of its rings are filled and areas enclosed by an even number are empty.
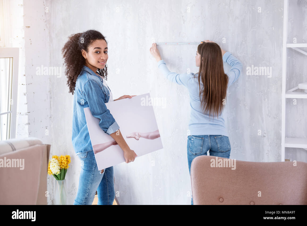
<svg viewBox="0 0 307 226">
<path fill-rule="evenodd" d="M 200 67 L 198 72 L 199 97 L 204 114 L 217 116 L 224 110 L 228 76 L 223 68 L 222 50 L 215 42 L 204 42 L 197 47 L 200 54 Z M 201 89 L 200 80 L 204 84 Z"/>
</svg>

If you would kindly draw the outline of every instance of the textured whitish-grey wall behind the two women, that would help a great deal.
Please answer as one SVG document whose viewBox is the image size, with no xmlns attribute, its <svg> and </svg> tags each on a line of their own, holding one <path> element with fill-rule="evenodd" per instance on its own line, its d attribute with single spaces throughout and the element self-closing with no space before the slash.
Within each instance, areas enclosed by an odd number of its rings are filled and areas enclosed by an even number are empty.
<svg viewBox="0 0 307 226">
<path fill-rule="evenodd" d="M 40 2 L 40 1 L 39 1 Z M 289 41 L 306 42 L 306 1 L 291 1 Z M 49 13 L 45 13 L 45 7 Z M 261 13 L 258 12 L 261 7 Z M 281 161 L 281 92 L 283 1 L 25 1 L 26 76 L 35 84 L 28 90 L 31 136 L 51 143 L 52 154 L 70 154 L 66 179 L 68 204 L 76 197 L 80 161 L 72 148 L 72 99 L 64 74 L 33 76 L 33 67 L 61 66 L 61 48 L 68 35 L 97 29 L 109 48 L 108 85 L 114 98 L 140 95 L 166 98 L 166 107 L 154 106 L 163 150 L 114 167 L 115 192 L 120 204 L 190 204 L 191 182 L 187 164 L 188 92 L 166 80 L 149 53 L 155 42 L 216 41 L 243 63 L 272 67 L 272 77 L 247 76 L 227 92 L 230 158 L 256 162 Z M 190 10 L 190 12 L 188 12 Z M 302 23 L 303 21 L 303 23 Z M 27 26 L 27 25 L 26 25 Z M 225 38 L 226 43 L 222 43 Z M 196 73 L 196 46 L 159 46 L 173 72 Z M 306 82 L 306 56 L 288 50 L 287 89 Z M 48 65 L 49 64 L 49 65 Z M 225 72 L 229 70 L 225 64 Z M 64 68 L 62 69 L 64 72 Z M 304 81 L 305 79 L 305 81 Z M 34 81 L 35 80 L 35 81 Z M 28 83 L 28 82 L 27 82 Z M 38 90 L 38 86 L 40 86 Z M 33 95 L 32 95 L 33 93 Z M 31 95 L 29 95 L 31 94 Z M 306 138 L 306 99 L 289 103 L 288 136 Z M 32 115 L 32 116 L 31 116 Z M 291 120 L 291 122 L 290 122 Z M 31 127 L 33 123 L 33 127 Z M 45 127 L 50 129 L 45 136 Z M 258 135 L 261 130 L 261 135 Z M 208 153 L 209 154 L 209 153 Z M 303 149 L 287 149 L 286 157 L 307 159 Z M 48 190 L 52 193 L 53 177 Z M 52 204 L 52 196 L 49 197 Z"/>
</svg>

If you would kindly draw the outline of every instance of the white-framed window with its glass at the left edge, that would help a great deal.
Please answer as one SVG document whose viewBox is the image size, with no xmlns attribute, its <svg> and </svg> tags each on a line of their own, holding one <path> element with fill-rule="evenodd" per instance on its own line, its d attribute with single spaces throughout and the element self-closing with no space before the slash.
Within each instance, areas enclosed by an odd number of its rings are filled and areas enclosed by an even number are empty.
<svg viewBox="0 0 307 226">
<path fill-rule="evenodd" d="M 16 137 L 19 48 L 0 48 L 0 140 Z"/>
</svg>

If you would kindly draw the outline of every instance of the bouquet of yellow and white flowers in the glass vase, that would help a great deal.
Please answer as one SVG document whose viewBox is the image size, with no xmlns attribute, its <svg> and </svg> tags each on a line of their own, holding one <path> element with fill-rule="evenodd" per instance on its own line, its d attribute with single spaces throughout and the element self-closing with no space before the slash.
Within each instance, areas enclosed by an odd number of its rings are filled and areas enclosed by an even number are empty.
<svg viewBox="0 0 307 226">
<path fill-rule="evenodd" d="M 53 155 L 52 158 L 49 159 L 48 174 L 53 175 L 56 180 L 64 180 L 69 163 L 69 155 Z"/>
</svg>

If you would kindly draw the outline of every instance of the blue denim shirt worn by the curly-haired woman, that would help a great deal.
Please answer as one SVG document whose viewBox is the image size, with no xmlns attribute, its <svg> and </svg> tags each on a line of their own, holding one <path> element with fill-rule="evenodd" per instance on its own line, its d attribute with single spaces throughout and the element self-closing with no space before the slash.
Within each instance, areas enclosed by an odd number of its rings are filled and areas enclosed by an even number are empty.
<svg viewBox="0 0 307 226">
<path fill-rule="evenodd" d="M 85 107 L 89 107 L 91 114 L 100 119 L 99 127 L 105 133 L 112 134 L 119 129 L 105 104 L 110 99 L 108 88 L 102 78 L 83 66 L 76 80 L 73 99 L 72 146 L 76 154 L 93 150 L 84 114 Z"/>
</svg>

